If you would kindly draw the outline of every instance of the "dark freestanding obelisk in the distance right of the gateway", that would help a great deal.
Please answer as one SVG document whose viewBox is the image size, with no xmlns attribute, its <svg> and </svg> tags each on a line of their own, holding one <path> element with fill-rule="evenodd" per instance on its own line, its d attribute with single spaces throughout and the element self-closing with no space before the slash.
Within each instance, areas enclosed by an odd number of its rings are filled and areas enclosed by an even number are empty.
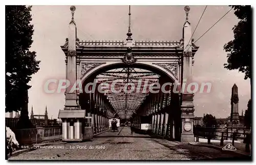
<svg viewBox="0 0 256 165">
<path fill-rule="evenodd" d="M 238 86 L 236 84 L 232 87 L 231 94 L 231 114 L 230 114 L 230 123 L 232 125 L 239 125 L 239 113 L 238 113 Z"/>
</svg>

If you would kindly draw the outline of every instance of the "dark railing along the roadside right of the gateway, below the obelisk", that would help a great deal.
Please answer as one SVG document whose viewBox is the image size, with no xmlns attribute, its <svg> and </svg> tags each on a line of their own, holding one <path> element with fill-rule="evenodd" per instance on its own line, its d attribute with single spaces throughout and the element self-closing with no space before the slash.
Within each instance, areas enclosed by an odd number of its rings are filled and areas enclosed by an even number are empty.
<svg viewBox="0 0 256 165">
<path fill-rule="evenodd" d="M 195 127 L 194 135 L 201 138 L 221 139 L 223 132 L 223 138 L 225 140 L 232 139 L 232 134 L 236 132 L 237 140 L 244 140 L 246 134 L 251 134 L 250 130 L 246 130 L 245 127 Z"/>
</svg>

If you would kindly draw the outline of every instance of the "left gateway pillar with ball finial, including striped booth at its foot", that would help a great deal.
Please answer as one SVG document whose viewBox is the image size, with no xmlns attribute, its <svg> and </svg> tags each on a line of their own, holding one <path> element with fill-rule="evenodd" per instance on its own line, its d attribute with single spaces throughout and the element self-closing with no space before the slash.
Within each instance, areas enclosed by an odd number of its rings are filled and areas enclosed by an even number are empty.
<svg viewBox="0 0 256 165">
<path fill-rule="evenodd" d="M 82 122 L 86 115 L 86 110 L 79 109 L 79 92 L 71 90 L 76 84 L 76 79 L 79 79 L 79 65 L 80 60 L 77 59 L 76 45 L 79 44 L 79 39 L 76 36 L 76 23 L 74 20 L 75 6 L 70 7 L 72 14 L 69 23 L 69 36 L 68 36 L 68 52 L 66 53 L 66 79 L 70 82 L 70 86 L 65 92 L 65 107 L 64 110 L 59 110 L 58 118 L 62 120 L 62 141 L 81 141 L 82 135 Z M 81 115 L 83 114 L 83 115 Z M 86 132 L 86 131 L 84 131 Z"/>
</svg>

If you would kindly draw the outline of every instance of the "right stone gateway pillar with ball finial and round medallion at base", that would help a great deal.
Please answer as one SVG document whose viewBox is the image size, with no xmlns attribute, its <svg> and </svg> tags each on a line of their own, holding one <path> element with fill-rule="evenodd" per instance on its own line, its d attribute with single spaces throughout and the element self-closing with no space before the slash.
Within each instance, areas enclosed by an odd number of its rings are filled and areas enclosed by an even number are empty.
<svg viewBox="0 0 256 165">
<path fill-rule="evenodd" d="M 183 26 L 183 64 L 182 74 L 183 77 L 180 80 L 180 84 L 189 84 L 192 80 L 192 58 L 193 54 L 191 48 L 189 48 L 191 41 L 191 27 L 188 21 L 188 12 L 190 10 L 189 6 L 184 7 L 186 13 L 186 21 Z M 180 96 L 182 98 L 181 104 L 181 120 L 182 120 L 182 132 L 181 132 L 181 142 L 194 142 L 194 93 L 185 90 L 180 91 Z"/>
</svg>

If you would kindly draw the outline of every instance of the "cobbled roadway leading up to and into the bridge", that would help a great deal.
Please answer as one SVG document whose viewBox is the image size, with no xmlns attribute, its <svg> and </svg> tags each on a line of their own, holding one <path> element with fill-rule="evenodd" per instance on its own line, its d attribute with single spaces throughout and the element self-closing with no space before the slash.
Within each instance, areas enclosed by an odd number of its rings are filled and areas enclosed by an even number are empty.
<svg viewBox="0 0 256 165">
<path fill-rule="evenodd" d="M 54 146 L 54 145 L 52 145 Z M 10 160 L 191 160 L 239 158 L 237 154 L 208 147 L 170 142 L 165 139 L 133 133 L 130 127 L 118 132 L 104 132 L 90 142 L 67 143 L 59 149 L 36 149 Z"/>
</svg>

